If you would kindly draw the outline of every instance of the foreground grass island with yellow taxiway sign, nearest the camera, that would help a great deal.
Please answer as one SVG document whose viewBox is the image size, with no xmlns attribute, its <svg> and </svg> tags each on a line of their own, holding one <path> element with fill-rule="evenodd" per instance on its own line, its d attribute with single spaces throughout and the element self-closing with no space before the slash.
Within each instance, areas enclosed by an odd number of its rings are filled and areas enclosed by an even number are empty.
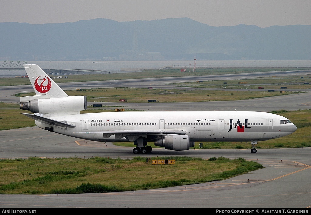
<svg viewBox="0 0 311 215">
<path fill-rule="evenodd" d="M 153 159 L 174 159 L 152 165 Z M 164 188 L 224 180 L 263 168 L 243 158 L 157 157 L 132 159 L 0 160 L 0 194 L 103 193 Z"/>
</svg>

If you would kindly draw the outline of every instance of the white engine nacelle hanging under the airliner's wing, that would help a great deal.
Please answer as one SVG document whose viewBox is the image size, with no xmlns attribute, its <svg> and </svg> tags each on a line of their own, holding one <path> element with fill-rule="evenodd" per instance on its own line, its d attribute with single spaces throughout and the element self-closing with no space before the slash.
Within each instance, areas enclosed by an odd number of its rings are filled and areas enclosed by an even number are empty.
<svg viewBox="0 0 311 215">
<path fill-rule="evenodd" d="M 188 135 L 170 135 L 163 139 L 158 139 L 155 141 L 156 146 L 165 147 L 165 149 L 171 149 L 174 151 L 188 150 L 190 146 Z M 191 146 L 194 144 L 191 142 Z"/>
</svg>

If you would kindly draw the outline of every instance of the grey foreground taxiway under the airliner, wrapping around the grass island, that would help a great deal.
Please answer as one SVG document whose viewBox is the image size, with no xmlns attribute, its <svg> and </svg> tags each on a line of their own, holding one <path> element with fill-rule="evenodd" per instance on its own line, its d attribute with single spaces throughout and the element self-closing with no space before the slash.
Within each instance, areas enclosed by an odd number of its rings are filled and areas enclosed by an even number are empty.
<svg viewBox="0 0 311 215">
<path fill-rule="evenodd" d="M 131 159 L 131 147 L 117 147 L 54 134 L 36 127 L 0 131 L 0 158 L 94 156 Z M 258 143 L 260 145 L 260 142 Z M 311 148 L 153 149 L 148 156 L 244 158 L 264 169 L 222 181 L 117 193 L 0 195 L 2 208 L 308 208 Z"/>
</svg>

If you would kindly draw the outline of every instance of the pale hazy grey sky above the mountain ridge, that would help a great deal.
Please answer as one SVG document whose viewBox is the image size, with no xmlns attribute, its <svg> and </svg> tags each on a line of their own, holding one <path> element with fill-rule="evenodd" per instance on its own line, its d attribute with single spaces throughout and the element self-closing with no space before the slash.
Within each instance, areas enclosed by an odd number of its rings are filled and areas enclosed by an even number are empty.
<svg viewBox="0 0 311 215">
<path fill-rule="evenodd" d="M 210 26 L 311 25 L 311 0 L 2 0 L 0 22 L 188 17 Z"/>
</svg>

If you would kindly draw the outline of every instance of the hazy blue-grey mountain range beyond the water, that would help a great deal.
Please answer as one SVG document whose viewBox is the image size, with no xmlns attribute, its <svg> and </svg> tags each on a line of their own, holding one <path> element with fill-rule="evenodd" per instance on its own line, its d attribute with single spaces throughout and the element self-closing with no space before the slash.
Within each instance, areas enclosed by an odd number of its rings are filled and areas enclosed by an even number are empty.
<svg viewBox="0 0 311 215">
<path fill-rule="evenodd" d="M 311 60 L 311 26 L 212 27 L 189 18 L 0 23 L 4 60 Z"/>
</svg>

